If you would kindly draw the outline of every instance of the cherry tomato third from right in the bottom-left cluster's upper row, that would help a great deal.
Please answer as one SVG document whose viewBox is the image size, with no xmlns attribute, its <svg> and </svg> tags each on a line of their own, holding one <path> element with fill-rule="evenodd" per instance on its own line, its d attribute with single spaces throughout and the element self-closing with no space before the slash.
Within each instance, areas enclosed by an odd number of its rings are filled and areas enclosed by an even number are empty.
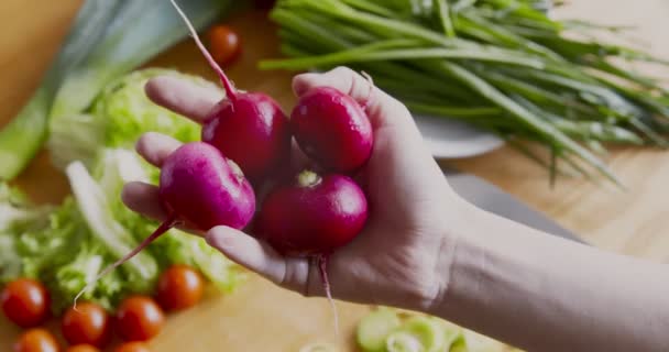
<svg viewBox="0 0 669 352">
<path fill-rule="evenodd" d="M 103 346 L 109 341 L 111 323 L 105 308 L 92 302 L 69 308 L 63 316 L 61 331 L 69 344 L 88 343 Z"/>
</svg>

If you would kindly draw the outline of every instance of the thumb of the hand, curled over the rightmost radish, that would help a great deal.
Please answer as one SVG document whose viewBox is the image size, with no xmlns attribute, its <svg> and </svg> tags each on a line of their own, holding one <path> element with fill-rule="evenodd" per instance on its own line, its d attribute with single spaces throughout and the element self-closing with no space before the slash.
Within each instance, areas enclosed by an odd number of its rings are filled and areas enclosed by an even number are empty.
<svg viewBox="0 0 669 352">
<path fill-rule="evenodd" d="M 366 106 L 374 129 L 384 124 L 414 123 L 403 103 L 379 88 L 371 90 L 371 82 L 348 67 L 337 67 L 325 74 L 301 74 L 293 79 L 293 90 L 298 97 L 316 87 L 336 88 Z"/>
</svg>

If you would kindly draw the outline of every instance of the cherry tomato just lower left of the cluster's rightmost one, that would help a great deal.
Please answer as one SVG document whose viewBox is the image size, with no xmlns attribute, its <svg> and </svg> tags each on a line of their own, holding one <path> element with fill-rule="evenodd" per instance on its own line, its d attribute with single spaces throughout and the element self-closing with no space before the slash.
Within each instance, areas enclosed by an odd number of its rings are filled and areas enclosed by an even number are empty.
<svg viewBox="0 0 669 352">
<path fill-rule="evenodd" d="M 125 341 L 146 341 L 161 331 L 164 322 L 163 310 L 146 296 L 125 298 L 117 312 L 117 330 Z"/>
</svg>

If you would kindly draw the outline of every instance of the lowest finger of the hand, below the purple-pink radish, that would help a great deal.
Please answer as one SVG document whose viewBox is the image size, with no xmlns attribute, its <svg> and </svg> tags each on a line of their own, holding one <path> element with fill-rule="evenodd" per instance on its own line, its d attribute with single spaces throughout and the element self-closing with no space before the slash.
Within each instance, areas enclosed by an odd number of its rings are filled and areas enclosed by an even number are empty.
<svg viewBox="0 0 669 352">
<path fill-rule="evenodd" d="M 231 261 L 279 286 L 308 295 L 308 278 L 312 273 L 306 258 L 284 257 L 267 243 L 228 227 L 209 230 L 206 239 Z"/>
</svg>

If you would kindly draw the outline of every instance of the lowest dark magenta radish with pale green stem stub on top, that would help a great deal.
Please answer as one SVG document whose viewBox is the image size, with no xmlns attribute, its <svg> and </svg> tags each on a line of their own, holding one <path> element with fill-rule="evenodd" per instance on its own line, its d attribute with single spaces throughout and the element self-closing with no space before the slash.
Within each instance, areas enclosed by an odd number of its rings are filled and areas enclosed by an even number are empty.
<svg viewBox="0 0 669 352">
<path fill-rule="evenodd" d="M 282 254 L 328 255 L 353 240 L 366 218 L 366 198 L 353 179 L 306 170 L 267 196 L 259 230 Z"/>
</svg>

